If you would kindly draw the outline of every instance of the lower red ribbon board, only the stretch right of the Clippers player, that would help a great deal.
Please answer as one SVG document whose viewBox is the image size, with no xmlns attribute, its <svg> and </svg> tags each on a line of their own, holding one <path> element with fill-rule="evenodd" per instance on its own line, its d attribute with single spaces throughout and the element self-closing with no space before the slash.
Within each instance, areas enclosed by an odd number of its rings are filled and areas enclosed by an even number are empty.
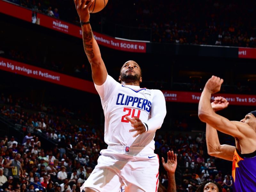
<svg viewBox="0 0 256 192">
<path fill-rule="evenodd" d="M 198 103 L 201 92 L 180 92 L 180 91 L 163 91 L 166 101 L 184 102 L 184 103 Z M 230 105 L 246 105 L 256 106 L 256 95 L 241 95 L 241 94 L 222 94 L 216 93 L 212 95 L 211 100 L 215 96 L 222 96 L 226 98 Z"/>
</svg>

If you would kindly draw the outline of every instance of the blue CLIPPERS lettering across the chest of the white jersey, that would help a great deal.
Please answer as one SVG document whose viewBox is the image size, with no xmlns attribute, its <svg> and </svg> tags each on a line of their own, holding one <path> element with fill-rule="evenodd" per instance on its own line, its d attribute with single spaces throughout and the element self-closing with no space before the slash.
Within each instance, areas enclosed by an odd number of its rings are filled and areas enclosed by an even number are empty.
<svg viewBox="0 0 256 192">
<path fill-rule="evenodd" d="M 149 100 L 125 95 L 123 93 L 118 93 L 116 105 L 137 107 L 147 112 L 150 112 L 151 110 L 151 102 Z"/>
</svg>

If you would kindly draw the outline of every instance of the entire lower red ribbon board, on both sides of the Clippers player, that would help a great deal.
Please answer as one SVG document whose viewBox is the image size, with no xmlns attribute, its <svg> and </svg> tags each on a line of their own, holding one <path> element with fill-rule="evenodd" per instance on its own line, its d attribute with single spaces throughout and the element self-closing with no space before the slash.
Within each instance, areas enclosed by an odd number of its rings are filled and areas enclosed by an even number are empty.
<svg viewBox="0 0 256 192">
<path fill-rule="evenodd" d="M 86 81 L 84 79 L 64 75 L 51 70 L 31 66 L 2 57 L 0 57 L 0 70 L 48 81 L 54 84 L 71 87 L 85 92 L 98 94 L 93 82 L 91 81 Z M 165 90 L 162 90 L 162 92 L 164 93 L 164 97 L 167 102 L 198 103 L 201 96 L 201 92 L 180 92 Z M 256 95 L 217 93 L 212 95 L 211 100 L 214 99 L 214 96 L 225 97 L 230 105 L 256 106 Z"/>
</svg>

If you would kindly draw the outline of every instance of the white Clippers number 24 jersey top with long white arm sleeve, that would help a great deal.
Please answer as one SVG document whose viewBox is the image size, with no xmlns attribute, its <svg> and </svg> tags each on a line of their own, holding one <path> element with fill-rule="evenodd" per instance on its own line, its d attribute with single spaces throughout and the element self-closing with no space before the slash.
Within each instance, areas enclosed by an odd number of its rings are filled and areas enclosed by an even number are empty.
<svg viewBox="0 0 256 192">
<path fill-rule="evenodd" d="M 160 90 L 122 85 L 109 75 L 104 84 L 95 84 L 95 87 L 105 115 L 105 142 L 108 145 L 147 146 L 154 150 L 155 132 L 161 127 L 166 115 L 163 93 Z M 125 116 L 138 117 L 148 124 L 148 132 L 132 137 L 136 131 L 129 132 L 133 128 Z"/>
</svg>

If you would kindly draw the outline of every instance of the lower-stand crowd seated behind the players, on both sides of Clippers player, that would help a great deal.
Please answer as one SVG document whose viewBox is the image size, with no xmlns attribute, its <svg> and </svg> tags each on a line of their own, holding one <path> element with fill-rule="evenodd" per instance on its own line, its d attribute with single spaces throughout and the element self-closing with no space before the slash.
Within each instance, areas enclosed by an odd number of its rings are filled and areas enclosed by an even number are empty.
<svg viewBox="0 0 256 192">
<path fill-rule="evenodd" d="M 35 130 L 33 133 L 25 131 L 23 140 L 16 140 L 14 136 L 1 138 L 1 188 L 4 191 L 26 192 L 44 191 L 45 188 L 47 191 L 80 191 L 79 187 L 97 164 L 100 150 L 107 147 L 103 140 L 103 126 L 93 127 L 86 120 L 81 125 L 72 124 L 71 117 L 61 113 L 63 118 L 54 115 L 42 118 L 41 112 L 35 109 L 34 113 L 26 112 L 21 101 L 19 104 L 22 107 L 18 110 L 10 102 L 10 96 L 6 98 L 2 94 L 1 117 L 22 126 L 34 127 Z M 185 130 L 188 124 L 177 122 L 176 126 Z M 226 191 L 232 191 L 231 171 L 224 169 L 220 159 L 208 156 L 201 132 L 195 137 L 191 137 L 190 133 L 156 132 L 155 153 L 165 158 L 168 150 L 177 154 L 177 191 L 193 192 L 205 179 L 215 180 Z M 40 140 L 42 134 L 56 145 L 44 148 L 46 145 Z M 230 141 L 230 138 L 226 140 Z M 167 174 L 161 164 L 159 169 L 159 181 L 167 188 Z"/>
</svg>

